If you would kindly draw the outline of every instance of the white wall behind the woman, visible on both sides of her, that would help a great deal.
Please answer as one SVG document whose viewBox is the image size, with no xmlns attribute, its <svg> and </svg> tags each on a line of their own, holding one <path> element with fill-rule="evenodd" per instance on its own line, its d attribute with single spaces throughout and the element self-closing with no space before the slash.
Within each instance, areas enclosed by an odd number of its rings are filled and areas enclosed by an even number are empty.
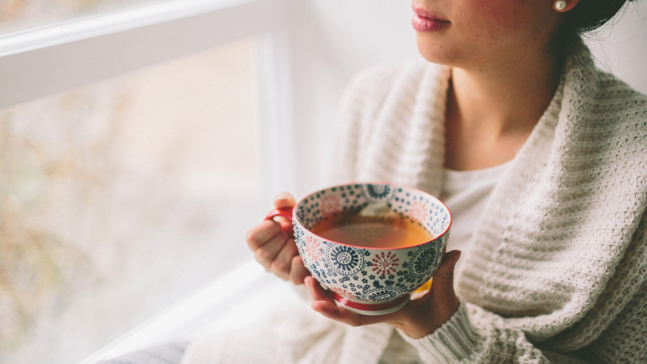
<svg viewBox="0 0 647 364">
<path fill-rule="evenodd" d="M 345 82 L 373 63 L 418 54 L 411 28 L 410 1 L 307 0 L 302 1 L 294 52 L 294 102 L 298 196 L 324 187 L 331 124 Z M 602 48 L 611 69 L 630 85 L 647 93 L 647 0 L 631 3 L 606 40 L 593 41 L 600 59 Z M 603 33 L 600 38 L 606 38 Z"/>
</svg>

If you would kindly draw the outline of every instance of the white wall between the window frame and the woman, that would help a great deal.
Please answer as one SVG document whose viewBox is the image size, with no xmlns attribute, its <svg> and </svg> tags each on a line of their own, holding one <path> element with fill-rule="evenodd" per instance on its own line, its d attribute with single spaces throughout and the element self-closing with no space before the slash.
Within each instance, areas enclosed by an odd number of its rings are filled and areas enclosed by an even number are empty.
<svg viewBox="0 0 647 364">
<path fill-rule="evenodd" d="M 331 126 L 349 78 L 368 65 L 418 55 L 408 1 L 302 4 L 307 16 L 295 23 L 294 40 L 298 196 L 327 184 Z"/>
</svg>

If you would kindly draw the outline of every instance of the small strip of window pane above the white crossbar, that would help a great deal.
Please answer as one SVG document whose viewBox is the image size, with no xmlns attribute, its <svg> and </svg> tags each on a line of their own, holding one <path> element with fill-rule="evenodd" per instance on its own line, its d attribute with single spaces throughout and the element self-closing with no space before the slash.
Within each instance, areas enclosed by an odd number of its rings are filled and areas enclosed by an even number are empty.
<svg viewBox="0 0 647 364">
<path fill-rule="evenodd" d="M 164 0 L 2 0 L 0 34 Z"/>
</svg>

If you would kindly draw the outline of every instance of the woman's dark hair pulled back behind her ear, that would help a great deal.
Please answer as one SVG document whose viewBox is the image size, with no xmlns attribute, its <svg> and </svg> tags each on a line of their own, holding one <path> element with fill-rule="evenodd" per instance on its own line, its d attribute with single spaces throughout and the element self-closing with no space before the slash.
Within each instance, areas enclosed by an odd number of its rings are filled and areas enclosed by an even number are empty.
<svg viewBox="0 0 647 364">
<path fill-rule="evenodd" d="M 607 23 L 627 1 L 635 0 L 580 0 L 575 7 L 564 13 L 548 43 L 547 51 L 563 59 L 580 35 Z"/>
</svg>

